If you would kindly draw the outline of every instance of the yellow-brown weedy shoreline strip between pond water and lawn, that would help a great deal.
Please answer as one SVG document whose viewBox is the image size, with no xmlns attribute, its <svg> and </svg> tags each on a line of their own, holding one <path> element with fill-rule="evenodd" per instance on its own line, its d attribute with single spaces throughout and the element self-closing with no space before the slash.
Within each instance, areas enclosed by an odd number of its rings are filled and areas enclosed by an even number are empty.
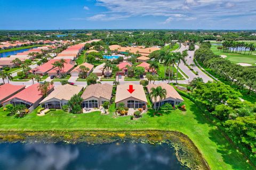
<svg viewBox="0 0 256 170">
<path fill-rule="evenodd" d="M 130 141 L 167 143 L 174 147 L 179 162 L 190 169 L 210 169 L 201 152 L 187 135 L 177 131 L 1 131 L 0 142 L 81 143 L 91 145 Z"/>
</svg>

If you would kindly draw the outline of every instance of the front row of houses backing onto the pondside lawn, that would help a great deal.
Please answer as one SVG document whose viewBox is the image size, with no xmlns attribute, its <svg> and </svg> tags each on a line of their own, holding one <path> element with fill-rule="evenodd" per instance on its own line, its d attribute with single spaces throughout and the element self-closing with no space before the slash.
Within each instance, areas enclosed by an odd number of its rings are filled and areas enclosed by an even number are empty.
<svg viewBox="0 0 256 170">
<path fill-rule="evenodd" d="M 127 90 L 131 85 L 133 86 L 133 89 L 135 89 L 132 93 Z M 63 105 L 67 105 L 68 100 L 70 100 L 72 96 L 83 90 L 83 87 L 71 86 L 70 84 L 65 84 L 64 86 L 59 87 L 50 86 L 49 95 L 44 98 L 38 90 L 38 86 L 39 83 L 33 84 L 28 88 L 25 88 L 25 86 L 3 84 L 0 86 L 0 102 L 3 106 L 7 104 L 23 104 L 26 105 L 29 111 L 33 111 L 38 105 L 41 105 L 44 108 L 61 109 Z M 157 97 L 156 101 L 153 99 L 153 104 L 155 106 L 162 106 L 165 103 L 174 106 L 183 101 L 182 97 L 170 84 L 149 84 L 147 90 L 150 92 L 151 88 L 156 88 L 158 86 L 166 89 L 166 98 L 160 100 L 160 98 Z M 113 86 L 108 83 L 91 84 L 86 87 L 81 96 L 83 98 L 82 107 L 99 108 L 105 101 L 111 100 L 112 93 Z M 148 100 L 142 85 L 133 83 L 118 85 L 116 89 L 115 104 L 118 106 L 120 103 L 124 103 L 125 107 L 128 108 L 147 107 Z"/>
</svg>

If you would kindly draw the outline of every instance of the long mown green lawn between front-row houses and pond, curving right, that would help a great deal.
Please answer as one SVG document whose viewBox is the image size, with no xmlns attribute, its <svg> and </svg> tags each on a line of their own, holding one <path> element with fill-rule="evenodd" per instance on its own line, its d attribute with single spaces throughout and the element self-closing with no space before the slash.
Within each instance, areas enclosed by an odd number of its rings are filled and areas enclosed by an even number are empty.
<svg viewBox="0 0 256 170">
<path fill-rule="evenodd" d="M 130 116 L 69 114 L 63 111 L 37 116 L 36 112 L 23 118 L 7 116 L 0 108 L 1 131 L 47 131 L 47 130 L 169 130 L 182 132 L 195 143 L 211 169 L 253 169 L 242 154 L 231 146 L 225 136 L 199 111 L 197 106 L 185 98 L 187 112 L 179 110 L 154 116 L 143 114 L 139 120 Z"/>
</svg>

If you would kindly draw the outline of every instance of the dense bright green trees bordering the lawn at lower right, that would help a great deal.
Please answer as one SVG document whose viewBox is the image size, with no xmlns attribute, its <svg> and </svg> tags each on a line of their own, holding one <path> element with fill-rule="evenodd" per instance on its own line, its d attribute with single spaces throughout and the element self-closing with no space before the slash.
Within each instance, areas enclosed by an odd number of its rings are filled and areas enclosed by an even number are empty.
<svg viewBox="0 0 256 170">
<path fill-rule="evenodd" d="M 241 101 L 241 93 L 222 82 L 203 83 L 195 78 L 194 89 L 186 97 L 193 100 L 203 112 L 208 112 L 213 123 L 228 134 L 252 163 L 256 163 L 256 105 Z"/>
</svg>

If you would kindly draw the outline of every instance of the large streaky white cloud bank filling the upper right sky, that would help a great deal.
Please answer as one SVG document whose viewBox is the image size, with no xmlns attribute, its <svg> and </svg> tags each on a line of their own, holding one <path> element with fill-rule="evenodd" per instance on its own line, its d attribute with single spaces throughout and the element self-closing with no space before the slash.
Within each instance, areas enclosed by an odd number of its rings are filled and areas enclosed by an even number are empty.
<svg viewBox="0 0 256 170">
<path fill-rule="evenodd" d="M 255 0 L 97 0 L 96 5 L 105 7 L 106 11 L 87 20 L 111 21 L 138 16 L 165 16 L 167 19 L 164 22 L 168 23 L 170 20 L 209 21 L 232 16 L 256 15 Z"/>
</svg>

